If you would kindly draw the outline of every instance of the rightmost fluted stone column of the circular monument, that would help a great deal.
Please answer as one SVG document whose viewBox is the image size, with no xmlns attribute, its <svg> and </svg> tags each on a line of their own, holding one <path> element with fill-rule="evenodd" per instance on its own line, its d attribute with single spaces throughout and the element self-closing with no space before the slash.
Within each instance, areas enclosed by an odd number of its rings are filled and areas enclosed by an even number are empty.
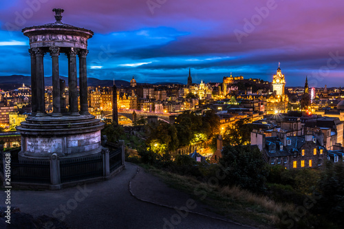
<svg viewBox="0 0 344 229">
<path fill-rule="evenodd" d="M 79 88 L 80 88 L 80 114 L 89 114 L 87 101 L 87 64 L 88 50 L 80 50 L 79 55 Z"/>
</svg>

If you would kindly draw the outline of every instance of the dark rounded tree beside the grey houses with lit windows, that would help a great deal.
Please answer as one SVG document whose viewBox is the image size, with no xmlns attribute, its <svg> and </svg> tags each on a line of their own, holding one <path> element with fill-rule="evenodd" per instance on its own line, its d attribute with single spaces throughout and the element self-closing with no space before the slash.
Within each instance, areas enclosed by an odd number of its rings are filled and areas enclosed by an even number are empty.
<svg viewBox="0 0 344 229">
<path fill-rule="evenodd" d="M 264 190 L 268 169 L 257 147 L 226 146 L 219 162 L 226 173 L 225 185 L 237 185 L 255 192 Z"/>
</svg>

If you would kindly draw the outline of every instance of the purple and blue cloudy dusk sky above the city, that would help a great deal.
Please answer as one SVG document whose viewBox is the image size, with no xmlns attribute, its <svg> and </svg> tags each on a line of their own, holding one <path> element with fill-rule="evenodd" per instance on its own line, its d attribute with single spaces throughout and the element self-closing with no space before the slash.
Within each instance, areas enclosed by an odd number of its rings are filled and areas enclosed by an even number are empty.
<svg viewBox="0 0 344 229">
<path fill-rule="evenodd" d="M 54 22 L 53 8 L 94 31 L 88 77 L 186 84 L 191 67 L 194 83 L 230 72 L 272 81 L 280 62 L 286 86 L 308 75 L 310 87 L 344 87 L 343 0 L 1 0 L 0 76 L 30 76 L 21 29 Z"/>
</svg>

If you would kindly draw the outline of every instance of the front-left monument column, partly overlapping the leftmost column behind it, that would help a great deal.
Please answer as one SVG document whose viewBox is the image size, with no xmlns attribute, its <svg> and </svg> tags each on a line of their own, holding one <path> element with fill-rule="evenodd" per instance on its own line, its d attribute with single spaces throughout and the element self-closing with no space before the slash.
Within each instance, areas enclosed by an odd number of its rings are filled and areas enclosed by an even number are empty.
<svg viewBox="0 0 344 229">
<path fill-rule="evenodd" d="M 32 50 L 36 54 L 36 116 L 45 115 L 45 87 L 44 87 L 44 65 L 43 57 L 45 52 L 39 48 L 34 47 Z"/>
</svg>

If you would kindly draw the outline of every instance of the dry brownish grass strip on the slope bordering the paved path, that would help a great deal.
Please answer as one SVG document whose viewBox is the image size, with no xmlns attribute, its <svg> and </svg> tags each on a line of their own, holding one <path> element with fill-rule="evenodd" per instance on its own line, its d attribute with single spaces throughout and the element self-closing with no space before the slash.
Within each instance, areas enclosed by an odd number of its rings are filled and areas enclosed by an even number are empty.
<svg viewBox="0 0 344 229">
<path fill-rule="evenodd" d="M 293 210 L 292 204 L 279 204 L 266 196 L 251 193 L 238 186 L 221 187 L 200 182 L 193 177 L 162 171 L 147 164 L 141 166 L 149 173 L 160 177 L 172 188 L 188 193 L 194 199 L 210 206 L 217 214 L 238 223 L 271 228 L 278 225 L 279 214 Z"/>
</svg>

